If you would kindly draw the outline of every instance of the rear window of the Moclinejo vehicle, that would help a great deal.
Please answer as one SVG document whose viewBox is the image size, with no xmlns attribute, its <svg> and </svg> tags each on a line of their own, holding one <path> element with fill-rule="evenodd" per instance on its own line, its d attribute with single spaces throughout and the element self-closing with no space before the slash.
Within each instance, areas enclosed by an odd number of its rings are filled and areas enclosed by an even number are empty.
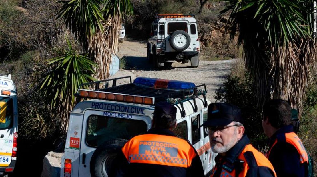
<svg viewBox="0 0 317 177">
<path fill-rule="evenodd" d="M 110 139 L 129 140 L 146 131 L 147 125 L 144 121 L 91 115 L 88 117 L 86 143 L 98 147 Z"/>
</svg>

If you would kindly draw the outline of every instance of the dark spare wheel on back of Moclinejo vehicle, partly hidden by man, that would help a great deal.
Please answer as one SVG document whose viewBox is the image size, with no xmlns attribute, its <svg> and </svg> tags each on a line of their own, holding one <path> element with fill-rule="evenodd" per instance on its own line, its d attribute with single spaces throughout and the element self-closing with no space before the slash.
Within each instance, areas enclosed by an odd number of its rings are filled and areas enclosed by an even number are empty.
<svg viewBox="0 0 317 177">
<path fill-rule="evenodd" d="M 113 164 L 126 139 L 111 139 L 100 145 L 90 161 L 90 173 L 92 177 L 108 177 L 115 173 L 116 164 Z"/>
</svg>

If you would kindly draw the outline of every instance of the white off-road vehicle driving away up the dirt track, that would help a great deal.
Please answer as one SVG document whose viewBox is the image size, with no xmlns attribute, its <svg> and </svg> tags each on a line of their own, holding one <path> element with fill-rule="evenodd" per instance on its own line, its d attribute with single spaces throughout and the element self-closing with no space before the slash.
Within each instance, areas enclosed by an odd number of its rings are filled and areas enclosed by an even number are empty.
<svg viewBox="0 0 317 177">
<path fill-rule="evenodd" d="M 152 22 L 147 60 L 155 69 L 171 67 L 172 61 L 199 65 L 199 38 L 194 15 L 161 14 Z"/>
</svg>

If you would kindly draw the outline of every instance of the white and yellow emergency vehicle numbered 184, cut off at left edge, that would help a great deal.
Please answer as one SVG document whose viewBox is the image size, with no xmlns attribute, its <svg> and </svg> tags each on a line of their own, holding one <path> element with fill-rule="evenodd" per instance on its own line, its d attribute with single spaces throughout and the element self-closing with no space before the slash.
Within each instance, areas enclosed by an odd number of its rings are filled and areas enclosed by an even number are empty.
<svg viewBox="0 0 317 177">
<path fill-rule="evenodd" d="M 16 87 L 10 74 L 0 74 L 0 176 L 12 173 L 18 137 Z"/>
</svg>

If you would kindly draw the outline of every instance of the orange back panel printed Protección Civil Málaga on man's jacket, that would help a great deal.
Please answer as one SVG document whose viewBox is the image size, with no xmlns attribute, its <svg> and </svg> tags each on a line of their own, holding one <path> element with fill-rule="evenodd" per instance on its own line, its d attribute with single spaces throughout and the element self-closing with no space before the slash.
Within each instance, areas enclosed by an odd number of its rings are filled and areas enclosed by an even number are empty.
<svg viewBox="0 0 317 177">
<path fill-rule="evenodd" d="M 133 137 L 122 152 L 129 163 L 147 163 L 188 168 L 197 155 L 187 141 L 167 135 L 145 134 Z"/>
</svg>

